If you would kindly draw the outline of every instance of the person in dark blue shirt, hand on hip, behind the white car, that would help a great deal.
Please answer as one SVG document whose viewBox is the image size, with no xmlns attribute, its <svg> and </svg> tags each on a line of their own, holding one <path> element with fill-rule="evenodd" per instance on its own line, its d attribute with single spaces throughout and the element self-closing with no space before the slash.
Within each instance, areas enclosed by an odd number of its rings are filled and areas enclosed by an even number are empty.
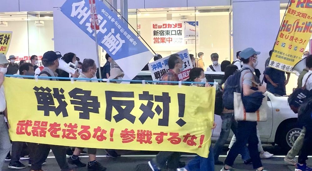
<svg viewBox="0 0 312 171">
<path fill-rule="evenodd" d="M 286 95 L 285 86 L 288 84 L 290 73 L 287 73 L 286 79 L 284 71 L 268 67 L 266 68 L 265 77 L 268 80 L 266 84 L 268 91 L 280 96 Z"/>
</svg>

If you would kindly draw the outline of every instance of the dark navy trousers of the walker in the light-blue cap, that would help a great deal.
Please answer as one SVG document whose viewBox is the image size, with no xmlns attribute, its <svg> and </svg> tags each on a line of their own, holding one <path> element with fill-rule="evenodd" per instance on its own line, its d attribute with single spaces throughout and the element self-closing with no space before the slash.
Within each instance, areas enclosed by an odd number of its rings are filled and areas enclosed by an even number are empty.
<svg viewBox="0 0 312 171">
<path fill-rule="evenodd" d="M 238 121 L 236 142 L 230 149 L 224 163 L 228 166 L 232 166 L 237 155 L 246 147 L 247 143 L 253 168 L 262 167 L 258 150 L 257 122 L 251 121 Z"/>
</svg>

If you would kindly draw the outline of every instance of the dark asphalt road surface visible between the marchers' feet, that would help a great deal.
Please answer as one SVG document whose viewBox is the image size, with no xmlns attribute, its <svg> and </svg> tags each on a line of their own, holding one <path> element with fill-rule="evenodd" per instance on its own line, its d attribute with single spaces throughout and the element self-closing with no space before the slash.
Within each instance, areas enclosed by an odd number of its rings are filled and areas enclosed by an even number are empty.
<svg viewBox="0 0 312 171">
<path fill-rule="evenodd" d="M 286 152 L 282 151 L 278 146 L 271 146 L 271 145 L 264 145 L 264 150 L 268 151 L 270 153 L 275 154 L 274 157 L 270 159 L 262 159 L 262 164 L 265 166 L 265 168 L 268 168 L 270 171 L 290 171 L 295 170 L 295 166 L 287 165 L 284 162 L 284 157 L 286 155 Z M 225 146 L 221 156 L 219 157 L 220 161 L 225 160 L 225 155 L 227 152 L 227 147 Z M 103 149 L 99 149 L 97 152 L 97 161 L 100 162 L 103 166 L 107 168 L 107 171 L 134 171 L 135 167 L 138 164 L 147 164 L 147 162 L 153 158 L 157 152 L 153 151 L 128 151 L 128 150 L 118 150 L 118 153 L 122 154 L 122 157 L 120 158 L 107 158 L 105 156 L 105 151 Z M 80 156 L 81 160 L 85 163 L 88 162 L 88 156 Z M 181 157 L 181 161 L 188 162 L 190 159 L 193 158 L 193 154 L 184 154 L 183 157 Z M 25 165 L 27 165 L 28 161 L 24 160 L 21 161 Z M 308 165 L 312 165 L 312 162 L 307 160 Z M 20 170 L 20 171 L 29 171 L 30 168 L 24 168 L 24 169 L 9 169 L 7 168 L 9 162 L 5 162 L 3 166 L 3 171 L 12 171 L 12 170 Z M 249 171 L 249 170 L 255 170 L 252 168 L 252 164 L 244 164 L 243 160 L 240 157 L 236 158 L 236 161 L 234 163 L 234 167 L 236 168 L 236 171 Z M 53 153 L 51 152 L 49 157 L 47 158 L 47 165 L 42 167 L 45 170 L 48 171 L 60 171 L 60 168 L 58 167 L 56 160 L 53 156 Z M 219 171 L 222 168 L 222 166 L 215 166 L 215 170 Z M 87 168 L 76 168 L 77 171 L 86 171 Z"/>
</svg>

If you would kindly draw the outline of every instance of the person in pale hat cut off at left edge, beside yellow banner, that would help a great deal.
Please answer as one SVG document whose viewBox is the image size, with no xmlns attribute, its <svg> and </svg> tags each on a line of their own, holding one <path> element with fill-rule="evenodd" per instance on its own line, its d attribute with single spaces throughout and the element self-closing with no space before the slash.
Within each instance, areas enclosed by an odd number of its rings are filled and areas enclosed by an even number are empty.
<svg viewBox="0 0 312 171">
<path fill-rule="evenodd" d="M 4 160 L 6 159 L 11 149 L 9 131 L 4 119 L 7 118 L 7 113 L 5 112 L 7 104 L 4 94 L 3 81 L 4 74 L 7 73 L 8 64 L 9 62 L 6 59 L 6 56 L 3 53 L 0 53 L 0 168 L 3 168 Z"/>
</svg>

